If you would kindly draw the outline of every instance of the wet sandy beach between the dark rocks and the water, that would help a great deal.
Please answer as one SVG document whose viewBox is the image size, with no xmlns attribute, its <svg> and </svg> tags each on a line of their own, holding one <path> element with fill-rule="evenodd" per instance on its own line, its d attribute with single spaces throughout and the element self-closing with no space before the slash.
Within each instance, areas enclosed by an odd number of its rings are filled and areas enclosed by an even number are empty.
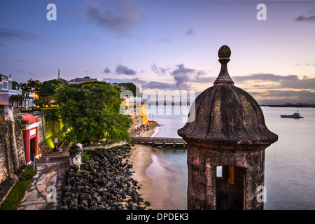
<svg viewBox="0 0 315 224">
<path fill-rule="evenodd" d="M 141 137 L 151 137 L 154 130 L 142 133 Z M 179 172 L 163 160 L 162 148 L 149 145 L 134 144 L 132 146 L 133 179 L 139 181 L 141 189 L 138 192 L 145 201 L 151 203 L 147 209 L 176 210 L 186 209 L 181 202 L 181 195 L 185 189 L 179 189 L 182 181 Z M 186 192 L 186 190 L 185 190 Z"/>
</svg>

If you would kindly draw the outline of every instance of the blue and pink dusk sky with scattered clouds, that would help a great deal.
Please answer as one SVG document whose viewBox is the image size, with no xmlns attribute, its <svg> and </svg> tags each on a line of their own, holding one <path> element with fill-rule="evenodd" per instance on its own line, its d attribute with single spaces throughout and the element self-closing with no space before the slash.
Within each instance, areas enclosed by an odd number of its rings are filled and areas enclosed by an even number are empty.
<svg viewBox="0 0 315 224">
<path fill-rule="evenodd" d="M 18 83 L 60 69 L 197 95 L 228 45 L 232 80 L 258 103 L 315 104 L 314 40 L 315 1 L 0 1 L 0 73 Z"/>
</svg>

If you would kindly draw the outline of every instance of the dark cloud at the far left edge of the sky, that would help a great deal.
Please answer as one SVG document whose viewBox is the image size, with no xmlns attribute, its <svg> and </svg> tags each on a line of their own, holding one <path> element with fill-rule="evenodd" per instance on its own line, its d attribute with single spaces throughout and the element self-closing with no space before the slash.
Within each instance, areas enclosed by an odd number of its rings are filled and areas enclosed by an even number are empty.
<svg viewBox="0 0 315 224">
<path fill-rule="evenodd" d="M 32 33 L 29 31 L 22 31 L 18 29 L 0 29 L 0 45 L 6 41 L 27 41 L 38 45 L 38 43 L 43 43 L 45 38 L 39 34 Z"/>
</svg>

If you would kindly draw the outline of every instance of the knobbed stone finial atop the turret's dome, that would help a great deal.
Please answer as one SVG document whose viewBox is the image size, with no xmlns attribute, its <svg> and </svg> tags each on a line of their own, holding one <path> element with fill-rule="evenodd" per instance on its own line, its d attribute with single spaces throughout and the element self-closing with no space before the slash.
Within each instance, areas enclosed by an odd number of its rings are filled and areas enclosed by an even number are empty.
<svg viewBox="0 0 315 224">
<path fill-rule="evenodd" d="M 228 45 L 223 45 L 218 50 L 218 61 L 221 63 L 221 71 L 218 78 L 214 81 L 214 85 L 234 85 L 234 82 L 228 72 L 228 62 L 230 62 L 230 56 L 231 49 Z"/>
</svg>

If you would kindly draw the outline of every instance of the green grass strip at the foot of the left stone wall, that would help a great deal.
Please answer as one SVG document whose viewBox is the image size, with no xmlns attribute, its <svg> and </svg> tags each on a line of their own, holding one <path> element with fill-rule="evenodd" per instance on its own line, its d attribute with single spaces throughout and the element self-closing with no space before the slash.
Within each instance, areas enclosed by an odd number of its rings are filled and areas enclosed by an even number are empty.
<svg viewBox="0 0 315 224">
<path fill-rule="evenodd" d="M 27 166 L 25 171 L 21 174 L 21 176 L 25 179 L 25 181 L 17 181 L 15 186 L 10 190 L 10 193 L 4 200 L 3 204 L 0 207 L 0 210 L 16 210 L 25 195 L 25 191 L 31 183 L 31 177 L 34 175 L 35 169 L 33 166 Z"/>
</svg>

